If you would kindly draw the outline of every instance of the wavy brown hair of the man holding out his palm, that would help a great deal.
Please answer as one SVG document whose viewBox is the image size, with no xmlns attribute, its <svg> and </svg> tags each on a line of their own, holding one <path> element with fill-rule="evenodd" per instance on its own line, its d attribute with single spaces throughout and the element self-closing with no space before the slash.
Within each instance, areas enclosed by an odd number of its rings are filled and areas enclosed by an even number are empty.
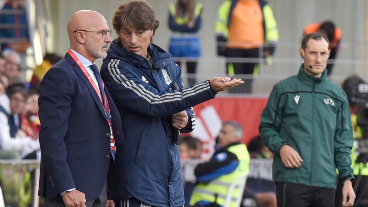
<svg viewBox="0 0 368 207">
<path fill-rule="evenodd" d="M 152 6 L 146 1 L 131 0 L 120 4 L 113 16 L 112 24 L 116 34 L 119 34 L 120 29 L 125 25 L 131 25 L 137 30 L 153 29 L 153 35 L 155 35 L 160 21 L 156 19 Z M 117 41 L 120 42 L 119 37 Z"/>
</svg>

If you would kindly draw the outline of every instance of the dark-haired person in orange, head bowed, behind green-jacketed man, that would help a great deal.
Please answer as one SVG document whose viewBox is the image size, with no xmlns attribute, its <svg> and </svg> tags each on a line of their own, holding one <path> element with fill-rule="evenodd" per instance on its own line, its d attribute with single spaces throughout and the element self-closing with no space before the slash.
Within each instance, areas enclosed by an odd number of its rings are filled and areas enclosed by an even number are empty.
<svg viewBox="0 0 368 207">
<path fill-rule="evenodd" d="M 330 76 L 332 74 L 333 64 L 335 63 L 337 52 L 340 50 L 342 31 L 335 27 L 335 24 L 332 21 L 324 21 L 321 23 L 309 24 L 304 27 L 304 35 L 312 32 L 321 32 L 322 34 L 326 35 L 328 41 L 330 41 L 329 61 L 332 63 L 327 64 L 327 76 Z"/>
</svg>

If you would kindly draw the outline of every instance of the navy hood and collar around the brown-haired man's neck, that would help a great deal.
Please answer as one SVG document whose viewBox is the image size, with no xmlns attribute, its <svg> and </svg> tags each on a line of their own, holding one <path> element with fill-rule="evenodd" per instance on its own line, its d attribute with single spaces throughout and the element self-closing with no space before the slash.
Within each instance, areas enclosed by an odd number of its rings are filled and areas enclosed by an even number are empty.
<svg viewBox="0 0 368 207">
<path fill-rule="evenodd" d="M 158 59 L 171 57 L 170 53 L 153 43 L 149 44 L 147 52 L 150 58 L 153 59 L 153 62 L 156 62 Z M 114 41 L 111 42 L 105 59 L 120 59 L 138 67 L 140 67 L 146 60 L 143 56 L 137 55 L 132 51 L 125 50 L 123 45 L 120 42 L 117 42 L 117 39 L 114 39 Z"/>
</svg>

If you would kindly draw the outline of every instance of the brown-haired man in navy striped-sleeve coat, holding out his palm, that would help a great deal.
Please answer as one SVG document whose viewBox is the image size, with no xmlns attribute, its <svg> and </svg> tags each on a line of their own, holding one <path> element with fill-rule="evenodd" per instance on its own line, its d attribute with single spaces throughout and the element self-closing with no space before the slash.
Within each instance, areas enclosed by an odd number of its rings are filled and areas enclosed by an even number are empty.
<svg viewBox="0 0 368 207">
<path fill-rule="evenodd" d="M 112 167 L 126 169 L 126 179 L 120 185 L 119 176 L 112 176 L 118 185 L 111 195 L 118 206 L 183 206 L 179 130 L 194 129 L 192 106 L 244 81 L 215 77 L 184 88 L 180 67 L 151 43 L 159 20 L 145 1 L 121 4 L 112 22 L 118 37 L 101 74 L 120 111 L 126 142 L 126 168 Z"/>
</svg>

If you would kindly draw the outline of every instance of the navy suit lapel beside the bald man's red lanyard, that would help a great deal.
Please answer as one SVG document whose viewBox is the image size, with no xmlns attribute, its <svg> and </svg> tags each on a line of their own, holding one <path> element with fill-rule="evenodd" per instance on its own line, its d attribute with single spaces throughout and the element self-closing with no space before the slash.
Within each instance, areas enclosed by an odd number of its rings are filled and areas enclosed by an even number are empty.
<svg viewBox="0 0 368 207">
<path fill-rule="evenodd" d="M 73 69 L 75 71 L 75 73 L 77 73 L 77 75 L 83 80 L 83 82 L 86 84 L 89 92 L 92 95 L 93 100 L 95 101 L 96 105 L 98 106 L 98 108 L 100 109 L 100 112 L 102 113 L 103 117 L 106 117 L 106 113 L 105 110 L 103 109 L 103 105 L 100 101 L 100 97 L 97 95 L 95 89 L 92 87 L 91 83 L 89 82 L 88 78 L 85 76 L 85 74 L 83 73 L 82 69 L 78 66 L 78 64 L 73 60 L 73 58 L 67 53 L 65 55 L 66 59 L 69 60 L 69 62 L 72 64 Z"/>
</svg>

